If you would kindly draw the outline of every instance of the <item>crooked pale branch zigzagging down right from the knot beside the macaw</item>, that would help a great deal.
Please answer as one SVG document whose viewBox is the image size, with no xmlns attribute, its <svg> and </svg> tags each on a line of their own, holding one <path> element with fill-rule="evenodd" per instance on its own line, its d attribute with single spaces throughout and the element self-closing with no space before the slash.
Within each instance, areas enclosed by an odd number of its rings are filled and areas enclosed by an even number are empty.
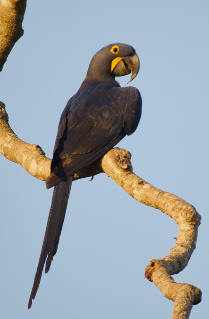
<svg viewBox="0 0 209 319">
<path fill-rule="evenodd" d="M 195 207 L 183 199 L 150 185 L 132 171 L 131 154 L 112 149 L 102 159 L 102 168 L 128 194 L 142 204 L 160 209 L 179 226 L 175 246 L 160 260 L 153 259 L 145 270 L 145 277 L 153 281 L 164 296 L 175 301 L 172 319 L 189 318 L 192 305 L 201 301 L 201 291 L 189 284 L 176 283 L 171 277 L 182 271 L 193 253 L 201 217 Z"/>
</svg>

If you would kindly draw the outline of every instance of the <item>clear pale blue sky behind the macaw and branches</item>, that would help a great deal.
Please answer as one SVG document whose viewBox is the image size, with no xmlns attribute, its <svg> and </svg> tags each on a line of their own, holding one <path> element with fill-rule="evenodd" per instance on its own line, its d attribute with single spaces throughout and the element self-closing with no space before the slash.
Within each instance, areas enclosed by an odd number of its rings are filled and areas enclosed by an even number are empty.
<svg viewBox="0 0 209 319">
<path fill-rule="evenodd" d="M 0 74 L 12 129 L 52 157 L 61 112 L 92 56 L 109 43 L 133 45 L 143 112 L 118 146 L 132 153 L 136 174 L 202 216 L 191 260 L 174 276 L 203 292 L 191 319 L 208 318 L 208 16 L 206 0 L 28 1 L 24 36 Z M 0 176 L 1 318 L 171 317 L 174 303 L 144 270 L 169 254 L 177 225 L 105 174 L 73 183 L 57 254 L 27 310 L 52 189 L 3 156 Z"/>
</svg>

